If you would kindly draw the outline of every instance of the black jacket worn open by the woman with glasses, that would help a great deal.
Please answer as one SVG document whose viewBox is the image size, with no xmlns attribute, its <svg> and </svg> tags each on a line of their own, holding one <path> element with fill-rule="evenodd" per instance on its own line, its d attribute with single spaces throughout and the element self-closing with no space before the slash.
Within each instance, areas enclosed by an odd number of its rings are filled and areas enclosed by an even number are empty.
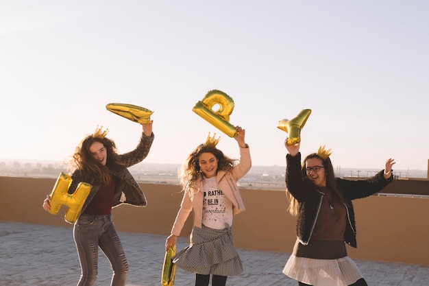
<svg viewBox="0 0 429 286">
<path fill-rule="evenodd" d="M 350 246 L 357 248 L 356 242 L 356 220 L 352 200 L 365 198 L 377 193 L 393 180 L 393 176 L 386 180 L 384 169 L 367 180 L 344 180 L 336 178 L 336 183 L 343 191 L 347 205 L 347 224 L 345 226 L 344 239 Z M 319 208 L 324 193 L 308 178 L 303 178 L 301 172 L 301 154 L 296 156 L 286 155 L 286 188 L 299 202 L 299 213 L 297 217 L 297 237 L 304 245 L 311 239 L 312 230 L 315 227 Z"/>
</svg>

